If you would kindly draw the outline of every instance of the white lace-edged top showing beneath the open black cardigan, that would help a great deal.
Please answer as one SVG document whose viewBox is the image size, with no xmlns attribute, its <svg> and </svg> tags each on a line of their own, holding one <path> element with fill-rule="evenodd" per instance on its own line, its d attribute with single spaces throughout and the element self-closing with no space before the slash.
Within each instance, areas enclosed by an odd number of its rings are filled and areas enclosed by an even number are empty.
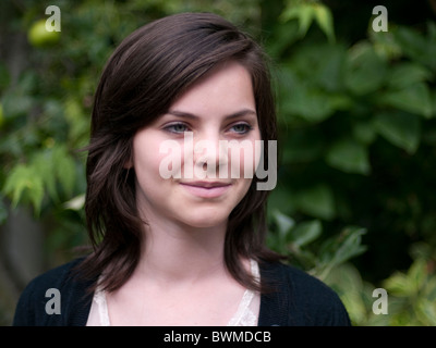
<svg viewBox="0 0 436 348">
<path fill-rule="evenodd" d="M 258 281 L 259 269 L 257 262 L 254 260 L 251 260 L 251 271 L 253 276 Z M 246 289 L 237 312 L 227 323 L 227 326 L 256 326 L 259 306 L 261 295 Z M 99 288 L 94 293 L 86 326 L 110 326 L 106 294 Z"/>
</svg>

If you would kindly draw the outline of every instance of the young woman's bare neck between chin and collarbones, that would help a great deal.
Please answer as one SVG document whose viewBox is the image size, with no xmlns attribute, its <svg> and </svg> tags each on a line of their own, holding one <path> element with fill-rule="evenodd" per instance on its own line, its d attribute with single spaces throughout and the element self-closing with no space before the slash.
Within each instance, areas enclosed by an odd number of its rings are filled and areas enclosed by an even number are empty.
<svg viewBox="0 0 436 348">
<path fill-rule="evenodd" d="M 195 283 L 226 275 L 223 246 L 227 225 L 192 227 L 148 220 L 135 276 L 159 283 Z"/>
</svg>

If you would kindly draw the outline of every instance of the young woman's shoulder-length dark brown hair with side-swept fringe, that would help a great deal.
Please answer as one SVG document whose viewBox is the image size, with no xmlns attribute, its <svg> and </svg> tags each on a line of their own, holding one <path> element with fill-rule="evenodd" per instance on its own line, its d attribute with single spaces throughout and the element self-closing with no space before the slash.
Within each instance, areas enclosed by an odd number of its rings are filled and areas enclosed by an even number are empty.
<svg viewBox="0 0 436 348">
<path fill-rule="evenodd" d="M 109 291 L 121 287 L 136 268 L 144 235 L 137 213 L 132 157 L 135 133 L 165 114 L 198 78 L 223 61 L 235 60 L 252 76 L 262 139 L 276 139 L 276 113 L 269 70 L 261 47 L 239 28 L 210 13 L 181 13 L 149 23 L 130 36 L 109 59 L 92 117 L 86 163 L 86 223 L 94 252 L 81 264 L 82 275 Z M 268 163 L 267 147 L 264 163 Z M 265 247 L 268 191 L 257 178 L 229 216 L 225 261 L 230 274 L 261 289 L 241 257 L 276 261 Z M 104 272 L 105 271 L 105 272 Z"/>
</svg>

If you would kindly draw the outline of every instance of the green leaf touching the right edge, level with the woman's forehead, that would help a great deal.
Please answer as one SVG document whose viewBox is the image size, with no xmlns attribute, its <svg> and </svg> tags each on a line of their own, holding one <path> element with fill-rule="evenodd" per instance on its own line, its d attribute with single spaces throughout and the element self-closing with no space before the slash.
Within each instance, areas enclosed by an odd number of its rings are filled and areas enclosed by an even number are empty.
<svg viewBox="0 0 436 348">
<path fill-rule="evenodd" d="M 378 98 L 378 103 L 416 113 L 426 119 L 436 113 L 431 91 L 424 83 L 415 83 L 400 90 L 388 90 Z"/>
</svg>

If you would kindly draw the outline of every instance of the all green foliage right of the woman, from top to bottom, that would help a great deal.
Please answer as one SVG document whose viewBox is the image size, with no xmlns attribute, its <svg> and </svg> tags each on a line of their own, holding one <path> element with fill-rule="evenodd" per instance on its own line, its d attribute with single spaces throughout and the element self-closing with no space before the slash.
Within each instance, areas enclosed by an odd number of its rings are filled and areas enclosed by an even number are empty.
<svg viewBox="0 0 436 348">
<path fill-rule="evenodd" d="M 432 261 L 415 258 L 409 271 L 380 282 L 390 296 L 388 315 L 372 311 L 376 286 L 361 273 L 371 269 L 350 261 L 370 248 L 361 244 L 365 236 L 386 228 L 434 250 L 436 206 L 426 187 L 436 169 L 436 25 L 419 32 L 390 23 L 389 32 L 374 33 L 370 23 L 366 38 L 347 47 L 308 30 L 314 5 L 289 1 L 280 17 L 290 21 L 288 33 L 277 30 L 269 48 L 280 62 L 283 144 L 270 245 L 331 285 L 356 325 L 434 325 Z M 412 177 L 420 173 L 417 183 Z M 360 222 L 365 228 L 347 227 Z"/>
</svg>

